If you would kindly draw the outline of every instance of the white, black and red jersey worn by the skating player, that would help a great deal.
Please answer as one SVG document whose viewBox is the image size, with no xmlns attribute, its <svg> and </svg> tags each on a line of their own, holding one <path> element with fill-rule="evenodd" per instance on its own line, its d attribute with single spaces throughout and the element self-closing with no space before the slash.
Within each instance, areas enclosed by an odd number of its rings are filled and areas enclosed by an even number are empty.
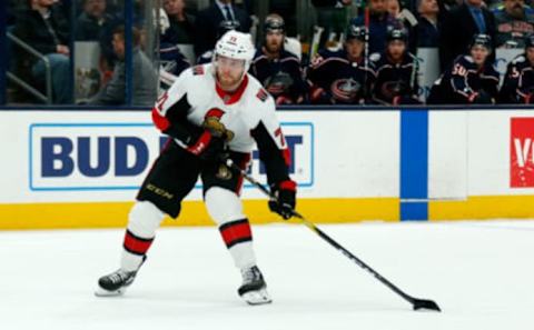
<svg viewBox="0 0 534 330">
<path fill-rule="evenodd" d="M 187 148 L 191 130 L 202 127 L 207 117 L 217 117 L 233 133 L 228 148 L 248 153 L 255 142 L 266 164 L 269 183 L 288 179 L 290 157 L 273 98 L 250 74 L 231 94 L 215 79 L 212 64 L 185 70 L 152 109 L 155 124 Z"/>
</svg>

